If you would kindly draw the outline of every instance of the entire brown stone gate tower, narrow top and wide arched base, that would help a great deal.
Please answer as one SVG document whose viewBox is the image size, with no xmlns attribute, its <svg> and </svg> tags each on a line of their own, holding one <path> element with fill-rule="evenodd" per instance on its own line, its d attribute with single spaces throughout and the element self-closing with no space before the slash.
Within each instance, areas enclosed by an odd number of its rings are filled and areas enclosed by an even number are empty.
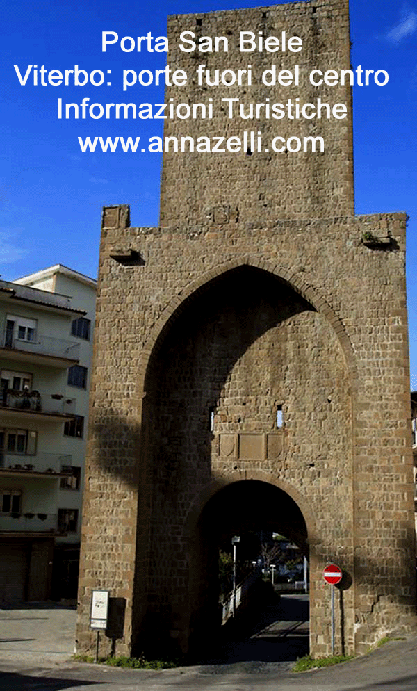
<svg viewBox="0 0 417 691">
<path fill-rule="evenodd" d="M 229 52 L 183 53 L 181 31 Z M 240 31 L 303 49 L 243 54 Z M 189 74 L 350 69 L 347 0 L 175 16 L 168 38 Z M 318 96 L 347 117 L 240 121 L 221 101 Z M 414 622 L 406 216 L 354 216 L 350 87 L 194 79 L 166 95 L 209 97 L 212 120 L 167 120 L 165 136 L 321 136 L 325 151 L 169 152 L 160 227 L 104 209 L 79 650 L 92 587 L 111 591 L 109 650 L 198 650 L 218 626 L 218 546 L 270 528 L 309 557 L 311 653 L 330 651 L 327 562 L 345 573 L 336 649 L 361 652 Z"/>
</svg>

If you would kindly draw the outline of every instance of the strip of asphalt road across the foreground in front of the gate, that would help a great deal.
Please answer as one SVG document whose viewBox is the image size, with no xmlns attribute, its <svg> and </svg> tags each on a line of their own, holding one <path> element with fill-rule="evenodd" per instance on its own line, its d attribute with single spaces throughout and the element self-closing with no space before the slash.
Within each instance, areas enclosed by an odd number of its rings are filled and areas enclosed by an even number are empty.
<svg viewBox="0 0 417 691">
<path fill-rule="evenodd" d="M 391 642 L 370 656 L 329 669 L 291 675 L 290 672 L 232 672 L 208 674 L 200 667 L 146 672 L 24 662 L 1 663 L 1 691 L 414 691 L 417 688 L 417 639 Z M 268 666 L 267 666 L 268 667 Z M 19 671 L 17 671 L 19 670 Z"/>
</svg>

